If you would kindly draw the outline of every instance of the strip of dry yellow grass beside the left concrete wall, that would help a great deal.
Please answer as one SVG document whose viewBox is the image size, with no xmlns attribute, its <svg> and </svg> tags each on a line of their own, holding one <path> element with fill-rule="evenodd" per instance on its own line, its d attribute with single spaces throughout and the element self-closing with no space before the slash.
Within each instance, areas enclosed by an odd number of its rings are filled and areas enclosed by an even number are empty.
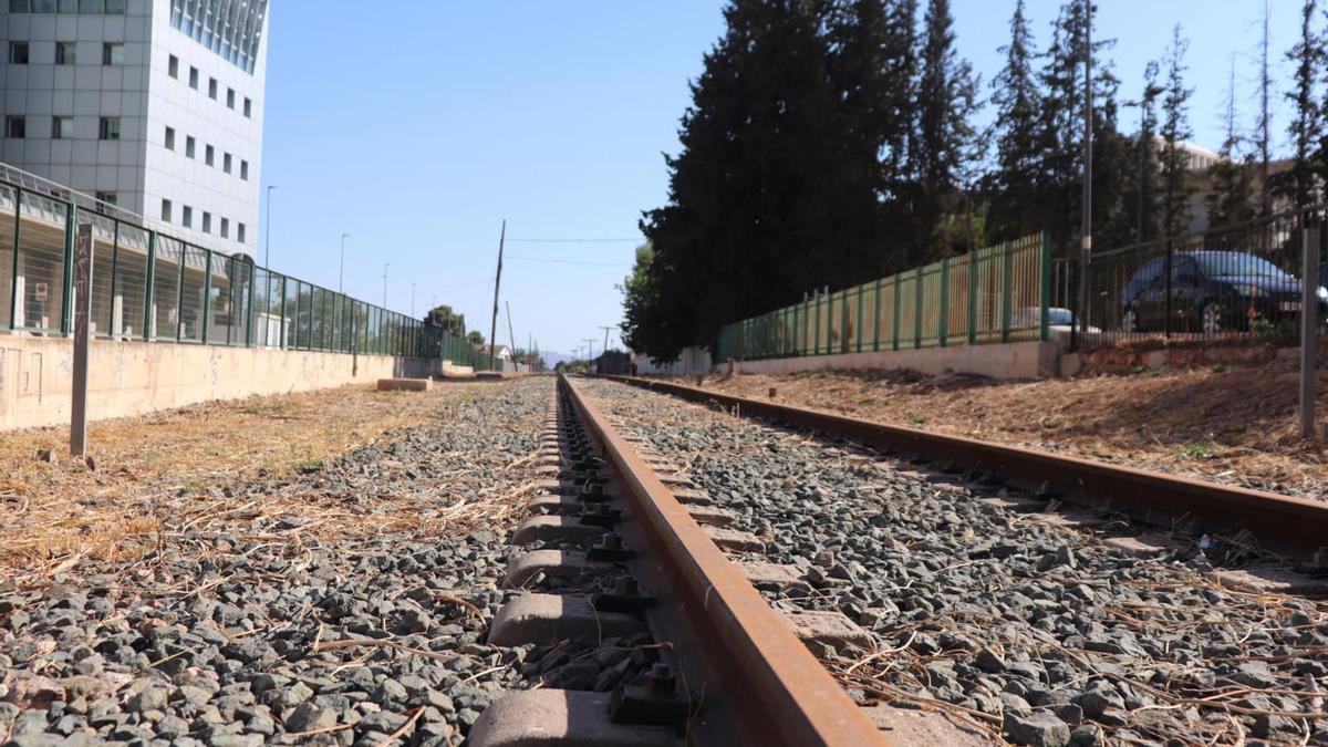
<svg viewBox="0 0 1328 747">
<path fill-rule="evenodd" d="M 449 384 L 404 393 L 355 385 L 100 421 L 89 427 L 96 468 L 64 456 L 68 428 L 4 433 L 0 578 L 50 576 L 84 558 L 131 560 L 166 542 L 243 532 L 275 516 L 299 521 L 287 537 L 274 540 L 408 525 L 436 530 L 462 513 L 470 524 L 469 509 L 348 506 L 344 496 L 309 494 L 307 486 L 284 479 L 396 429 L 446 421 L 456 403 L 501 387 L 506 384 Z M 50 449 L 56 463 L 37 460 L 39 449 Z M 392 472 L 390 464 L 384 467 L 384 480 Z M 262 500 L 230 494 L 236 481 L 258 477 L 268 479 L 271 494 Z"/>
</svg>

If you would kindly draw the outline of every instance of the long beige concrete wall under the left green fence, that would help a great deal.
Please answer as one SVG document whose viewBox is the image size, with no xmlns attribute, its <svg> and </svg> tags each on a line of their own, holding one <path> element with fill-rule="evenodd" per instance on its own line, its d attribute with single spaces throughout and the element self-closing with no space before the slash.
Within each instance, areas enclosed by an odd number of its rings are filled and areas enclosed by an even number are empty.
<svg viewBox="0 0 1328 747">
<path fill-rule="evenodd" d="M 301 392 L 389 376 L 440 374 L 437 360 L 386 355 L 94 340 L 89 419 L 139 415 L 248 395 Z M 0 335 L 0 431 L 69 423 L 73 340 Z"/>
</svg>

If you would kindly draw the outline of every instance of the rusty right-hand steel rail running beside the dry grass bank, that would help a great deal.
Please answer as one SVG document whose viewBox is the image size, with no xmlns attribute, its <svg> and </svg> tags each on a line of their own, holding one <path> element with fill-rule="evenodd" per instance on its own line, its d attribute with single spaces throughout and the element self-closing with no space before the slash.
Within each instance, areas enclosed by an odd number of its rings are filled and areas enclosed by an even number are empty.
<svg viewBox="0 0 1328 747">
<path fill-rule="evenodd" d="M 822 431 L 875 448 L 956 463 L 1069 502 L 1122 510 L 1146 524 L 1170 528 L 1179 520 L 1194 521 L 1211 532 L 1246 529 L 1264 546 L 1297 558 L 1311 558 L 1315 550 L 1328 545 L 1328 502 L 1324 501 L 890 425 L 673 381 L 603 377 L 692 401 L 714 403 L 744 416 Z"/>
</svg>

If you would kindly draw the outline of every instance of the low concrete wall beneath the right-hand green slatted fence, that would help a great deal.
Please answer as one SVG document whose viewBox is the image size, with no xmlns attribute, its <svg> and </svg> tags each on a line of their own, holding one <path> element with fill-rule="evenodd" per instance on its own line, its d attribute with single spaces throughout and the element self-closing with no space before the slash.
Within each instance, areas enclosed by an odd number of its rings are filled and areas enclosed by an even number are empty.
<svg viewBox="0 0 1328 747">
<path fill-rule="evenodd" d="M 1024 342 L 989 346 L 957 346 L 923 350 L 880 352 L 849 352 L 813 355 L 806 358 L 780 358 L 773 360 L 741 360 L 740 374 L 795 374 L 799 371 L 827 371 L 853 368 L 911 370 L 922 374 L 979 374 L 993 379 L 1040 379 L 1058 371 L 1060 348 L 1056 343 Z M 721 362 L 716 372 L 728 371 Z"/>
</svg>

